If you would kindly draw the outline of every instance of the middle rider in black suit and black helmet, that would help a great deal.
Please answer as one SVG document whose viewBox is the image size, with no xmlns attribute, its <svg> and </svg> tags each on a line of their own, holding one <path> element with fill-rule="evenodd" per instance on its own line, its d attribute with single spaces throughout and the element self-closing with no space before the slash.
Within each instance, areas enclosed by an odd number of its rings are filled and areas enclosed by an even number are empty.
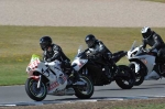
<svg viewBox="0 0 165 109">
<path fill-rule="evenodd" d="M 87 55 L 91 56 L 91 57 L 96 57 L 96 59 L 100 58 L 100 57 L 105 57 L 105 59 L 110 64 L 109 66 L 112 66 L 111 68 L 113 68 L 113 76 L 114 73 L 117 73 L 118 67 L 116 65 L 116 63 L 112 59 L 112 53 L 105 46 L 105 44 L 97 40 L 95 37 L 94 34 L 88 34 L 85 39 L 86 44 L 88 45 L 88 51 L 86 52 Z M 103 66 L 105 67 L 105 73 L 108 76 L 108 78 L 111 78 L 111 75 L 109 73 L 109 67 Z"/>
</svg>

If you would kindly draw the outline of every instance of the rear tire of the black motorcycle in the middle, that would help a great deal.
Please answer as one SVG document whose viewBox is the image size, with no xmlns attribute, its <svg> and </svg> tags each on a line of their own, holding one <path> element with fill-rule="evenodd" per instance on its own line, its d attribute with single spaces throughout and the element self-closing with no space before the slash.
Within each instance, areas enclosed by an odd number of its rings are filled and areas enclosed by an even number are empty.
<svg viewBox="0 0 165 109">
<path fill-rule="evenodd" d="M 117 85 L 122 89 L 131 89 L 134 86 L 135 76 L 134 73 L 130 69 L 129 66 L 125 65 L 119 65 L 120 73 L 129 73 L 127 74 L 128 77 L 118 77 L 116 79 Z"/>
</svg>

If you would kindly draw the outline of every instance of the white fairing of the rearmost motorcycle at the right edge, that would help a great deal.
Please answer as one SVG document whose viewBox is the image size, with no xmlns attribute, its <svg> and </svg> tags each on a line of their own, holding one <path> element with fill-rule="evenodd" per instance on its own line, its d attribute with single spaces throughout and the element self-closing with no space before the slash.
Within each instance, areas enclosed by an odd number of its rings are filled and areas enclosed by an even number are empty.
<svg viewBox="0 0 165 109">
<path fill-rule="evenodd" d="M 154 55 L 136 55 L 136 54 L 140 54 L 142 53 L 142 50 L 141 50 L 142 46 L 135 46 L 135 42 L 133 43 L 132 45 L 132 48 L 130 51 L 128 51 L 128 55 L 127 57 L 129 58 L 129 61 L 134 64 L 135 66 L 135 73 L 139 73 L 141 67 L 140 67 L 140 63 L 135 62 L 135 59 L 139 59 L 141 61 L 147 68 L 146 70 L 146 76 L 145 76 L 145 80 L 152 80 L 152 79 L 158 79 L 161 78 L 161 76 L 155 72 L 153 70 L 154 69 L 154 66 L 156 65 L 155 64 L 155 56 Z M 153 52 L 157 52 L 156 50 L 154 50 Z"/>
</svg>

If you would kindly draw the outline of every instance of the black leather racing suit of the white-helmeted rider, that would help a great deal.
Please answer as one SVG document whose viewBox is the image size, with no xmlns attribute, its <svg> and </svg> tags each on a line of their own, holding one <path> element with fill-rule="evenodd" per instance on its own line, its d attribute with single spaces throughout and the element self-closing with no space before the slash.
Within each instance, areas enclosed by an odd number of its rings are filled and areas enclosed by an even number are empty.
<svg viewBox="0 0 165 109">
<path fill-rule="evenodd" d="M 152 33 L 152 35 L 148 39 L 143 39 L 143 47 L 145 48 L 146 45 L 148 44 L 152 48 L 150 48 L 150 51 L 153 50 L 157 50 L 157 57 L 165 57 L 165 44 L 162 40 L 162 37 L 156 34 L 154 31 Z"/>
</svg>

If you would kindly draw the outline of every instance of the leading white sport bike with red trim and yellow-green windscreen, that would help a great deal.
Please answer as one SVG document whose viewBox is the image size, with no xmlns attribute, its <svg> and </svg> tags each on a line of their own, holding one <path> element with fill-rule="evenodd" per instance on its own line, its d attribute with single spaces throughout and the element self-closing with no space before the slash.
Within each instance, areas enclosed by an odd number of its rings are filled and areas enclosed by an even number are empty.
<svg viewBox="0 0 165 109">
<path fill-rule="evenodd" d="M 45 63 L 40 56 L 33 54 L 26 67 L 29 78 L 25 83 L 25 90 L 33 100 L 41 101 L 46 95 L 65 96 L 75 95 L 80 99 L 88 99 L 94 94 L 94 85 L 86 76 L 80 76 L 79 84 L 68 84 L 68 76 L 62 72 L 61 63 L 54 61 Z"/>
</svg>

